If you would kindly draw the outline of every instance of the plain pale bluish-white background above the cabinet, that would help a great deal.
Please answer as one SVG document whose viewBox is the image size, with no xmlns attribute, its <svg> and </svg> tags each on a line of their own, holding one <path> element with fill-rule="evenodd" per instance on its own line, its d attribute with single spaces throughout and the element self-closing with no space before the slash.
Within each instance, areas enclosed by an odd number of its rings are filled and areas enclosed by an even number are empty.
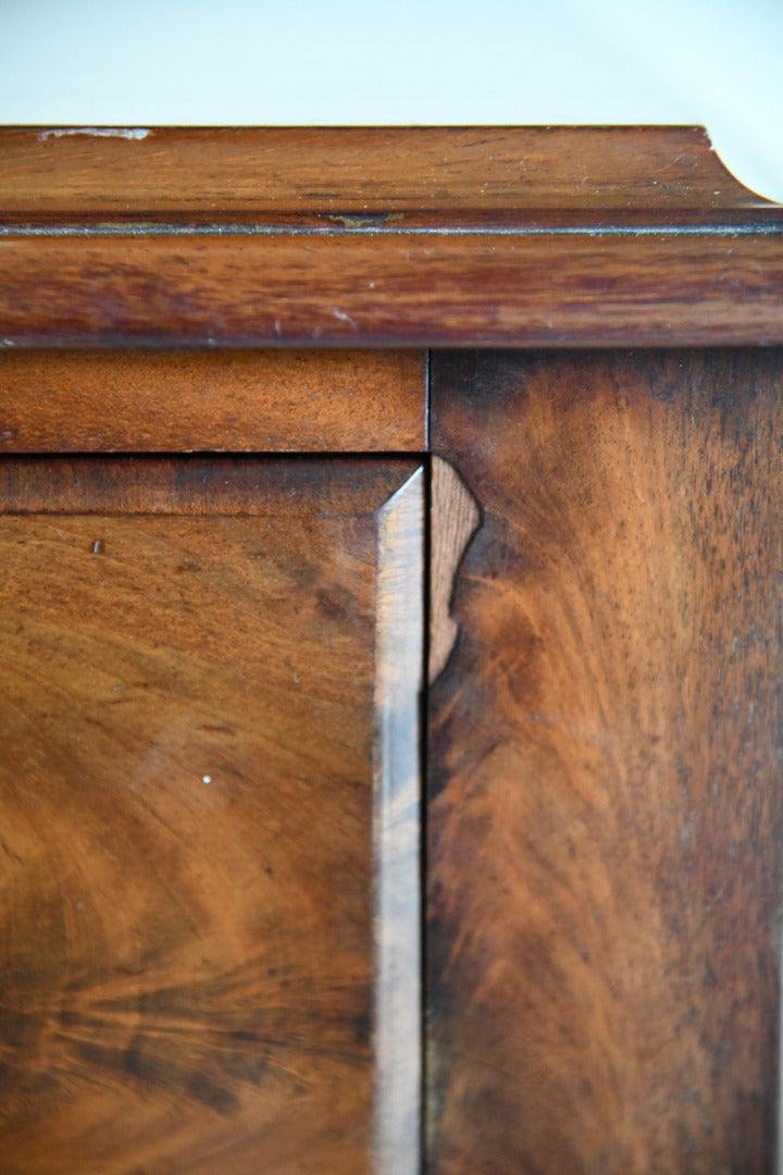
<svg viewBox="0 0 783 1175">
<path fill-rule="evenodd" d="M 783 0 L 0 0 L 0 122 L 702 122 L 783 201 Z"/>
</svg>

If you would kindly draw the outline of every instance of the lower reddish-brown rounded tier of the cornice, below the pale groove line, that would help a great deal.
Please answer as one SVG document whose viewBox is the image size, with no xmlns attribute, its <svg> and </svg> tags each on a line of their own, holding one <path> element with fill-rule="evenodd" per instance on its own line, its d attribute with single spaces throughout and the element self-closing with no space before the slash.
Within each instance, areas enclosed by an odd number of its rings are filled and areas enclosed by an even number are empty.
<svg viewBox="0 0 783 1175">
<path fill-rule="evenodd" d="M 783 342 L 783 221 L 760 233 L 19 237 L 15 347 Z"/>
</svg>

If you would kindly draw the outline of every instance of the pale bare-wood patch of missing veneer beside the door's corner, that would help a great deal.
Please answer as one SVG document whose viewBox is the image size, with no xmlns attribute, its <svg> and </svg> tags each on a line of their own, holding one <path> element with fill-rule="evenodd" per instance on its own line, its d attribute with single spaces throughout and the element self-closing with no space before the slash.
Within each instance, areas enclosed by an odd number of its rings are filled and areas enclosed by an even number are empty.
<svg viewBox="0 0 783 1175">
<path fill-rule="evenodd" d="M 481 515 L 461 477 L 441 457 L 432 458 L 430 682 L 445 669 L 457 640 L 451 616 L 454 576 Z"/>
</svg>

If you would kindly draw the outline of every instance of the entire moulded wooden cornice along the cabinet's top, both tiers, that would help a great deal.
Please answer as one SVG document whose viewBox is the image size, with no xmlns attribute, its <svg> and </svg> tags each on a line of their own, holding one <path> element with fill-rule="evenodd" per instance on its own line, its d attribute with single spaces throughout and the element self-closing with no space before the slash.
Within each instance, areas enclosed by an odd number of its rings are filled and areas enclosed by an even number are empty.
<svg viewBox="0 0 783 1175">
<path fill-rule="evenodd" d="M 61 129 L 0 134 L 0 347 L 783 343 L 698 128 Z"/>
</svg>

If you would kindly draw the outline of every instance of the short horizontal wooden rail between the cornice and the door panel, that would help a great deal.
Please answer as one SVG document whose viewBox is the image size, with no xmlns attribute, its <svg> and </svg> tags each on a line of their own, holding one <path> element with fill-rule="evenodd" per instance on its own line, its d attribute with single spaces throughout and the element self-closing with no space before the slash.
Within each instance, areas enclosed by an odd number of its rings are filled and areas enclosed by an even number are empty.
<svg viewBox="0 0 783 1175">
<path fill-rule="evenodd" d="M 0 451 L 420 451 L 424 391 L 413 351 L 0 349 Z"/>
</svg>

